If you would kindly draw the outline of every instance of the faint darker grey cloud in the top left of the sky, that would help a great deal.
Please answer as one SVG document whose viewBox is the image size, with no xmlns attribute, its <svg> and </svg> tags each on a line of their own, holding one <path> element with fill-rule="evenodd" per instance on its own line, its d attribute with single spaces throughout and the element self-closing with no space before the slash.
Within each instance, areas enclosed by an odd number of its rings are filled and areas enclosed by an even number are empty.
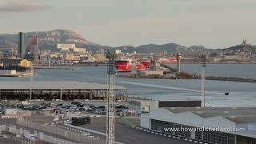
<svg viewBox="0 0 256 144">
<path fill-rule="evenodd" d="M 1 0 L 0 2 L 0 12 L 35 11 L 49 8 L 50 6 L 38 2 L 21 2 L 20 0 Z"/>
</svg>

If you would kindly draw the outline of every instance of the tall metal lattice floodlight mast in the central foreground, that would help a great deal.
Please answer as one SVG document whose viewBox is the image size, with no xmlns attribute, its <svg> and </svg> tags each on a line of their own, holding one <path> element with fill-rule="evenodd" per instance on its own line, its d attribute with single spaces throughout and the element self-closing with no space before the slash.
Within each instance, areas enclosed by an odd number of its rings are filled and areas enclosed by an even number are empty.
<svg viewBox="0 0 256 144">
<path fill-rule="evenodd" d="M 108 97 L 107 97 L 107 123 L 106 144 L 114 144 L 114 102 L 115 102 L 115 67 L 116 55 L 107 51 Z"/>
</svg>

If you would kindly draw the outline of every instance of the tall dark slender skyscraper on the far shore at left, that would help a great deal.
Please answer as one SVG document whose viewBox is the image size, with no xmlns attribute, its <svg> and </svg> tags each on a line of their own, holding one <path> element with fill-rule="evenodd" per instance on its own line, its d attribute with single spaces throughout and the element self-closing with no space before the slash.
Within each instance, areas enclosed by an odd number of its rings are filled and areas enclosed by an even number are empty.
<svg viewBox="0 0 256 144">
<path fill-rule="evenodd" d="M 18 58 L 25 58 L 25 33 L 18 33 Z"/>
</svg>

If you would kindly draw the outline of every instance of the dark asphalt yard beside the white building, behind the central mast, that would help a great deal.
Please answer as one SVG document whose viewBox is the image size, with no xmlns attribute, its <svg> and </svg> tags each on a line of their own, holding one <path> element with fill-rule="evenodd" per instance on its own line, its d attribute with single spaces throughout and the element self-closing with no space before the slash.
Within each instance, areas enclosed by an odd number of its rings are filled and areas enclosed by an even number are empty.
<svg viewBox="0 0 256 144">
<path fill-rule="evenodd" d="M 91 118 L 89 125 L 81 126 L 90 130 L 97 130 L 106 133 L 106 118 Z M 156 134 L 144 133 L 141 130 L 136 130 L 129 126 L 124 126 L 121 123 L 115 122 L 115 141 L 126 144 L 192 144 L 194 142 L 186 142 L 166 138 Z"/>
</svg>

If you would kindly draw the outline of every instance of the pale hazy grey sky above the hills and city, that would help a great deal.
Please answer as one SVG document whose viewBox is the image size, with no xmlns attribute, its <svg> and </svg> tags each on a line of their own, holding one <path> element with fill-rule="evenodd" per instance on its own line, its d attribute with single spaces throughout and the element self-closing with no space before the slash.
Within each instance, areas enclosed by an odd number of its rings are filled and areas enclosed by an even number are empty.
<svg viewBox="0 0 256 144">
<path fill-rule="evenodd" d="M 105 46 L 256 45 L 255 0 L 0 0 L 0 34 L 74 30 Z"/>
</svg>

